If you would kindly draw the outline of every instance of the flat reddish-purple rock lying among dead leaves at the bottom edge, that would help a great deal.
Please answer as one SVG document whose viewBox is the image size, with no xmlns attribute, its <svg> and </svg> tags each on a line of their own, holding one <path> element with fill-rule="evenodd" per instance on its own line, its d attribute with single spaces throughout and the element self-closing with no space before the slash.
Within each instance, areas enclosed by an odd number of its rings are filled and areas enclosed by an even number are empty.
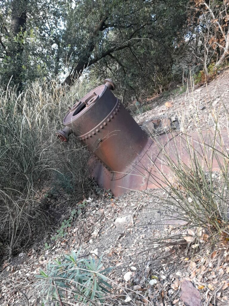
<svg viewBox="0 0 229 306">
<path fill-rule="evenodd" d="M 181 283 L 181 299 L 186 306 L 202 306 L 201 296 L 190 281 L 184 280 Z"/>
</svg>

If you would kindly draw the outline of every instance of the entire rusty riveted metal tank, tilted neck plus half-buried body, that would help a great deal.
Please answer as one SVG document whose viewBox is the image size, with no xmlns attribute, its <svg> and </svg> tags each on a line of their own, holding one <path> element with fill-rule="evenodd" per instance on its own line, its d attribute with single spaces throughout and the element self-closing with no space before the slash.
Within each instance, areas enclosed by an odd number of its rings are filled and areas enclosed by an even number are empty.
<svg viewBox="0 0 229 306">
<path fill-rule="evenodd" d="M 65 128 L 56 132 L 62 141 L 68 141 L 73 133 L 87 146 L 93 154 L 89 174 L 100 187 L 119 196 L 129 190 L 165 186 L 174 176 L 171 161 L 191 162 L 190 146 L 202 166 L 212 162 L 212 170 L 220 170 L 225 159 L 220 152 L 229 147 L 228 131 L 220 131 L 216 138 L 211 132 L 201 136 L 196 132 L 167 133 L 151 139 L 112 93 L 114 89 L 112 80 L 106 79 L 70 108 L 63 120 Z"/>
</svg>

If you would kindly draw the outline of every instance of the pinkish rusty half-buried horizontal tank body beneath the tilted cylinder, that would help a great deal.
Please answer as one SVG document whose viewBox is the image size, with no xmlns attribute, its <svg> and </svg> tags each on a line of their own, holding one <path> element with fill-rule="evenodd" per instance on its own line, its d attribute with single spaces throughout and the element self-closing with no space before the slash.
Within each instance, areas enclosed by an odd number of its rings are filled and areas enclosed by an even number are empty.
<svg viewBox="0 0 229 306">
<path fill-rule="evenodd" d="M 212 132 L 198 132 L 191 135 L 178 133 L 165 134 L 154 141 L 148 140 L 148 149 L 145 154 L 131 166 L 123 170 L 122 177 L 115 179 L 109 176 L 107 170 L 92 157 L 89 161 L 89 172 L 98 184 L 106 189 L 111 189 L 115 196 L 120 196 L 129 190 L 146 190 L 161 188 L 169 185 L 175 179 L 171 162 L 180 162 L 190 166 L 195 154 L 201 161 L 203 168 L 212 171 L 219 171 L 224 162 L 228 162 L 229 137 L 227 130 L 221 131 L 216 137 L 214 152 L 212 150 L 214 134 Z M 222 145 L 222 139 L 224 144 Z M 224 151 L 223 154 L 221 152 Z M 131 168 L 131 171 L 129 170 Z"/>
</svg>

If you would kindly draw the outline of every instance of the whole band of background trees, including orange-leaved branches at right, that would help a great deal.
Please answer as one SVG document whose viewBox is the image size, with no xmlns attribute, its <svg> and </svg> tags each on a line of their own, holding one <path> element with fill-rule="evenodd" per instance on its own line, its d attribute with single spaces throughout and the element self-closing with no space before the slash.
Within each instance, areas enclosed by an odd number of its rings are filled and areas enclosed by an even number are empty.
<svg viewBox="0 0 229 306">
<path fill-rule="evenodd" d="M 37 78 L 72 85 L 110 77 L 126 101 L 166 90 L 228 57 L 226 0 L 5 0 L 0 75 L 18 91 Z"/>
</svg>

